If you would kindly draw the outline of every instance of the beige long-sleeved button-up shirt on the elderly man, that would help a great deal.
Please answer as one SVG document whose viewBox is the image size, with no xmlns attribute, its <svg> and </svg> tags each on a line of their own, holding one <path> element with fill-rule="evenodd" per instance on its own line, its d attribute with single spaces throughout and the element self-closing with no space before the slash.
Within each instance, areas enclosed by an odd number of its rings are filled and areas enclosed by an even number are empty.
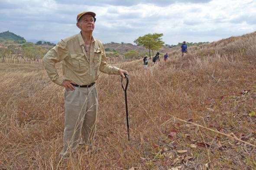
<svg viewBox="0 0 256 170">
<path fill-rule="evenodd" d="M 90 58 L 88 58 L 90 57 Z M 59 77 L 55 63 L 62 62 L 63 79 Z M 103 44 L 92 38 L 90 56 L 86 55 L 81 33 L 65 38 L 43 57 L 43 65 L 52 82 L 61 85 L 70 80 L 78 85 L 88 85 L 99 77 L 99 71 L 119 74 L 119 68 L 107 64 Z"/>
</svg>

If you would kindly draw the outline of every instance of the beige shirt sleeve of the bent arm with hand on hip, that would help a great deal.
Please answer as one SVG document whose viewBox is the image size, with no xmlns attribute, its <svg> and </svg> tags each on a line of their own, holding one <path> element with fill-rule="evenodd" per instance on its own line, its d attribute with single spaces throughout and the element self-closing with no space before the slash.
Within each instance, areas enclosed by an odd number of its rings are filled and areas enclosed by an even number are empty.
<svg viewBox="0 0 256 170">
<path fill-rule="evenodd" d="M 63 79 L 59 77 L 55 64 L 65 59 L 67 56 L 67 44 L 62 40 L 49 50 L 42 59 L 42 63 L 49 78 L 57 85 L 62 85 Z"/>
</svg>

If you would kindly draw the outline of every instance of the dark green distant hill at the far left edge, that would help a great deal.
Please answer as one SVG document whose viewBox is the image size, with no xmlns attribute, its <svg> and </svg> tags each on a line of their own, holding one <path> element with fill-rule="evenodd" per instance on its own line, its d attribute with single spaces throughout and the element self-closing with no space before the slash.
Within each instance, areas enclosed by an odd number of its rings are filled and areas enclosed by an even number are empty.
<svg viewBox="0 0 256 170">
<path fill-rule="evenodd" d="M 12 41 L 13 43 L 19 43 L 19 44 L 26 42 L 25 38 L 19 35 L 16 35 L 10 31 L 5 31 L 0 33 L 0 42 L 12 42 Z"/>
</svg>

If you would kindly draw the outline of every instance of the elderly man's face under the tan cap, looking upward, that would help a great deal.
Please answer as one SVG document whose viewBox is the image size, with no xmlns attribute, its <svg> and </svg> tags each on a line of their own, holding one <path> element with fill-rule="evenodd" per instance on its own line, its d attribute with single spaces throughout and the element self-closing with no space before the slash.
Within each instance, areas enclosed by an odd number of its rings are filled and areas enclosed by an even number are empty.
<svg viewBox="0 0 256 170">
<path fill-rule="evenodd" d="M 94 17 L 86 14 L 82 16 L 76 24 L 81 31 L 93 31 L 94 30 Z"/>
</svg>

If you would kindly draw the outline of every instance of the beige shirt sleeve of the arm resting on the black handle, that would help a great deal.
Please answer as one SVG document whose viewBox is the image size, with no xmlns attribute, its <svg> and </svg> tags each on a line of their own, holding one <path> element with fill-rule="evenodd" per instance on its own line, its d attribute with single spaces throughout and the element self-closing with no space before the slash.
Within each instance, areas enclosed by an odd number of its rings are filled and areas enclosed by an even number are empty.
<svg viewBox="0 0 256 170">
<path fill-rule="evenodd" d="M 100 62 L 100 72 L 104 72 L 107 74 L 119 74 L 119 68 L 115 66 L 110 66 L 107 64 L 107 57 L 105 54 L 105 49 L 103 45 L 101 45 L 101 62 Z"/>
</svg>

